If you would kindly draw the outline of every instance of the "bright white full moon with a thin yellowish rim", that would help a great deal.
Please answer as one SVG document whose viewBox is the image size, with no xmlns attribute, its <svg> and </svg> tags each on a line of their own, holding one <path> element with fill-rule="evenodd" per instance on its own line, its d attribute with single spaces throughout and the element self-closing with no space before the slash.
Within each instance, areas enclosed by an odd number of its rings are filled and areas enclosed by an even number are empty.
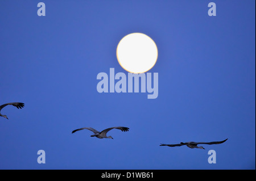
<svg viewBox="0 0 256 181">
<path fill-rule="evenodd" d="M 119 41 L 117 60 L 130 73 L 144 73 L 150 70 L 158 59 L 155 42 L 143 33 L 131 33 Z"/>
</svg>

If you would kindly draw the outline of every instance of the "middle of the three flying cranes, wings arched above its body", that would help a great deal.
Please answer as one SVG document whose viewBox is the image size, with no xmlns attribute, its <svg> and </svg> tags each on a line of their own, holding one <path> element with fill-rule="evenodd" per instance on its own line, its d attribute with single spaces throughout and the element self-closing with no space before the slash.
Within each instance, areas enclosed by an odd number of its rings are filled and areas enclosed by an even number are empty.
<svg viewBox="0 0 256 181">
<path fill-rule="evenodd" d="M 126 128 L 126 127 L 112 127 L 112 128 L 107 128 L 107 129 L 104 129 L 104 131 L 97 131 L 96 129 L 93 129 L 93 128 L 90 128 L 90 127 L 85 127 L 85 128 L 80 128 L 80 129 L 75 129 L 74 131 L 72 131 L 72 133 L 75 133 L 77 131 L 80 131 L 82 129 L 88 129 L 90 131 L 92 131 L 94 134 L 91 135 L 91 137 L 94 137 L 96 136 L 97 138 L 112 138 L 112 136 L 106 136 L 106 133 L 108 133 L 110 130 L 112 129 L 120 129 L 121 131 L 123 132 L 126 132 L 126 131 L 129 131 L 130 128 Z"/>
</svg>

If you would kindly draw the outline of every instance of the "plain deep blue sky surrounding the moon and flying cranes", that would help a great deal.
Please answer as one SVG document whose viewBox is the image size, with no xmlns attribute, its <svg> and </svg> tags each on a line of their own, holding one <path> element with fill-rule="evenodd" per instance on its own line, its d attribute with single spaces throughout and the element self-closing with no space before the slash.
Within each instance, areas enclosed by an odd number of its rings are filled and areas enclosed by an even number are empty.
<svg viewBox="0 0 256 181">
<path fill-rule="evenodd" d="M 0 169 L 255 169 L 255 1 L 39 2 L 0 2 L 0 104 L 25 103 L 1 111 Z M 156 99 L 97 92 L 98 73 L 127 74 L 115 51 L 133 32 L 158 47 Z M 115 126 L 130 131 L 71 134 Z"/>
</svg>

